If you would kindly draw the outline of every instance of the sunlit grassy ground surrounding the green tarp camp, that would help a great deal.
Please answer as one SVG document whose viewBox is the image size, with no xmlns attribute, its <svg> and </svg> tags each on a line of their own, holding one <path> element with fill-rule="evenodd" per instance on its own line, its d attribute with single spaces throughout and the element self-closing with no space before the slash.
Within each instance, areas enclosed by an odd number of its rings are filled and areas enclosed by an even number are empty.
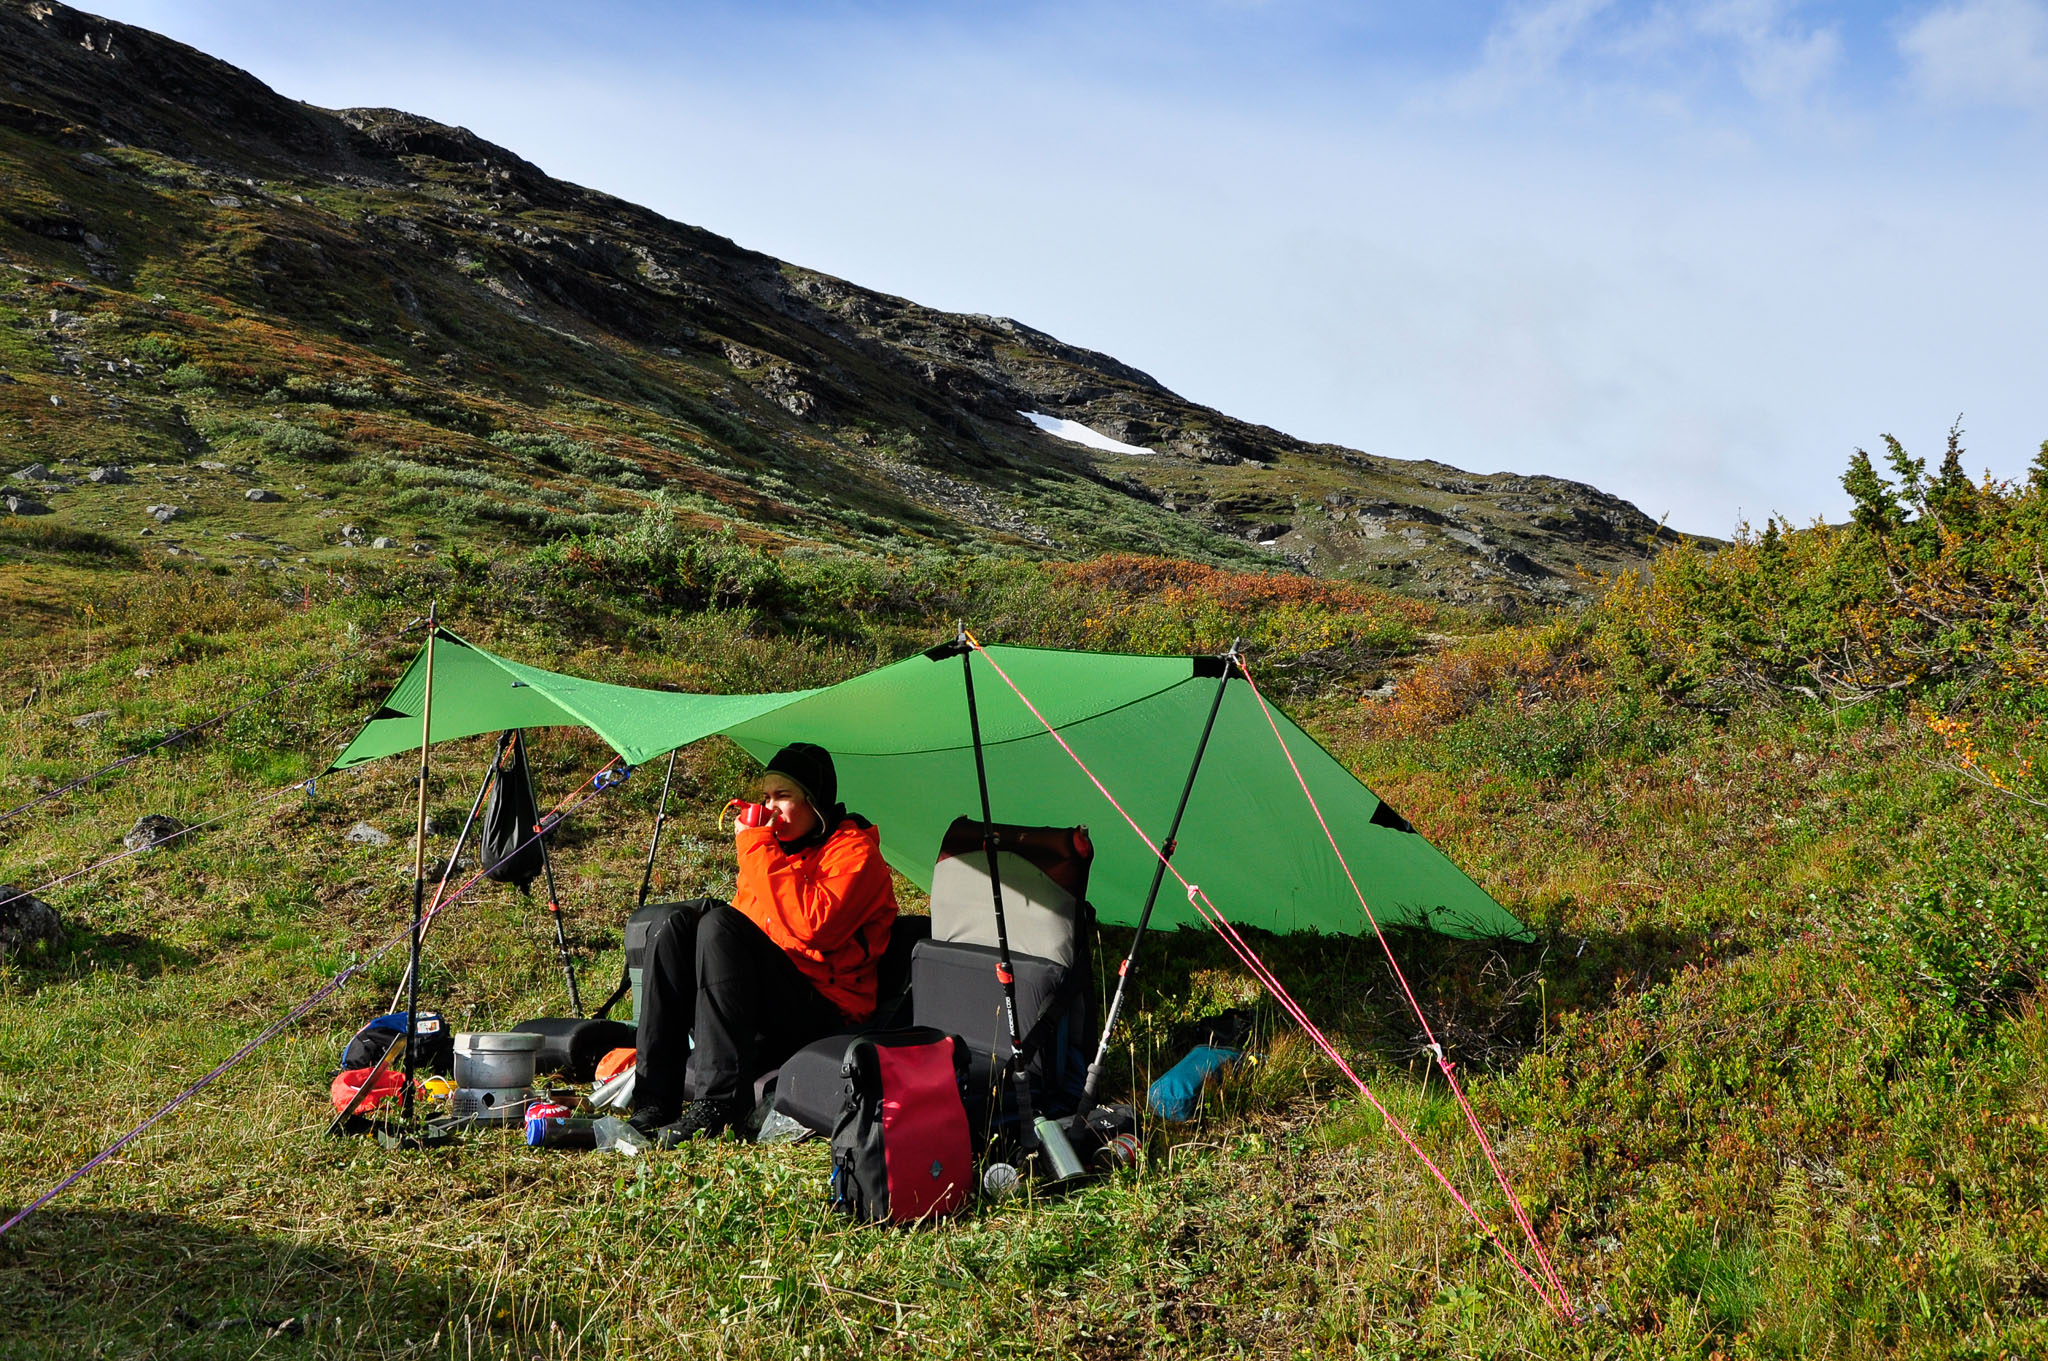
<svg viewBox="0 0 2048 1361">
<path fill-rule="evenodd" d="M 504 573 L 307 594 L 16 557 L 8 596 L 41 612 L 10 614 L 0 641 L 6 804 L 334 657 L 350 628 L 385 632 L 426 589 L 471 636 L 535 661 L 727 688 L 834 679 L 938 628 L 915 608 L 831 632 L 741 612 L 645 618 L 625 647 L 627 604 L 578 614 L 543 594 L 518 610 L 508 591 L 530 581 Z M 1104 612 L 1051 577 L 965 608 L 1053 641 Z M 1106 641 L 1184 614 L 1130 606 L 1130 632 Z M 381 647 L 223 741 L 10 825 L 6 874 L 106 853 L 145 810 L 190 819 L 305 774 L 276 753 L 332 751 L 403 653 Z M 0 1300 L 16 1322 L 0 1355 L 1997 1357 L 2048 1343 L 2048 1021 L 2032 1003 L 1980 1021 L 1931 1005 L 1880 939 L 1890 884 L 2038 862 L 2017 804 L 1960 786 L 1882 720 L 1663 714 L 1556 759 L 1540 725 L 1479 714 L 1374 737 L 1343 692 L 1313 690 L 1311 727 L 1544 933 L 1505 960 L 1432 941 L 1403 958 L 1464 1036 L 1475 1099 L 1583 1328 L 1548 1322 L 1286 1031 L 1198 1126 L 1151 1130 L 1141 1175 L 938 1232 L 870 1232 L 825 1210 L 817 1146 L 627 1165 L 498 1138 L 430 1156 L 322 1140 L 334 1054 L 397 980 L 385 960 L 8 1236 Z M 117 716 L 68 725 L 98 708 Z M 543 786 L 563 790 L 602 753 L 557 737 L 541 757 Z M 477 759 L 449 749 L 438 765 L 432 806 L 451 825 Z M 688 755 L 657 890 L 729 876 L 711 823 L 741 772 L 717 745 Z M 399 929 L 406 786 L 395 765 L 336 778 L 313 804 L 287 796 L 51 894 L 66 948 L 0 968 L 0 1199 L 41 1191 Z M 594 804 L 561 847 L 586 978 L 616 968 L 651 796 L 635 782 Z M 399 843 L 346 845 L 358 819 Z M 1133 1017 L 1141 1077 L 1171 1060 L 1176 1019 L 1253 997 L 1212 943 L 1176 939 L 1171 956 Z M 457 915 L 430 958 L 428 997 L 463 1025 L 561 1005 L 539 913 L 508 890 Z M 1372 948 L 1276 941 L 1274 960 L 1499 1216 L 1442 1085 L 1417 1081 Z M 1536 993 L 1503 970 L 1536 974 Z M 307 1332 L 268 1336 L 285 1318 Z"/>
</svg>

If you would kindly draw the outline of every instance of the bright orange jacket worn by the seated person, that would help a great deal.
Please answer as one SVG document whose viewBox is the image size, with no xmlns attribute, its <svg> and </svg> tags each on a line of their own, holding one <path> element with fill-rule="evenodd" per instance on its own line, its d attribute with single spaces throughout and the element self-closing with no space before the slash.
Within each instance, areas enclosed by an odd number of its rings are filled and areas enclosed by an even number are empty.
<svg viewBox="0 0 2048 1361">
<path fill-rule="evenodd" d="M 823 843 L 788 855 L 766 827 L 739 829 L 733 907 L 848 1019 L 874 1013 L 874 976 L 897 911 L 879 831 L 846 819 Z"/>
</svg>

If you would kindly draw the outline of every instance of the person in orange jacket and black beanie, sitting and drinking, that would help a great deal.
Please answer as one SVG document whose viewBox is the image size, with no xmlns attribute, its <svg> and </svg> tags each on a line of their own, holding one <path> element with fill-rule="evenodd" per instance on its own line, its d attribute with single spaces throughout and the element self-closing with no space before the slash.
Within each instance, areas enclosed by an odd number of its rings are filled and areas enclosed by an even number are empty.
<svg viewBox="0 0 2048 1361">
<path fill-rule="evenodd" d="M 768 825 L 735 827 L 733 901 L 682 905 L 647 960 L 633 1124 L 664 1146 L 723 1134 L 756 1074 L 874 1013 L 897 915 L 881 833 L 813 743 L 782 747 L 756 790 Z"/>
</svg>

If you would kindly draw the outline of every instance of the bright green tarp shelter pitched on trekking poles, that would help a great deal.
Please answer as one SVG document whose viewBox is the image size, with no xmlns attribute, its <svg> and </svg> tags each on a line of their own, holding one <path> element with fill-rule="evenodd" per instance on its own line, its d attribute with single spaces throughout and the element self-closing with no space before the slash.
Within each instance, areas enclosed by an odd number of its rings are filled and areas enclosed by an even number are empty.
<svg viewBox="0 0 2048 1361">
<path fill-rule="evenodd" d="M 1210 657 L 1004 645 L 971 659 L 995 819 L 1087 823 L 1096 841 L 1087 896 L 1102 921 L 1135 925 L 1157 860 L 995 675 L 991 657 L 1155 839 L 1174 815 L 1221 665 Z M 424 682 L 422 653 L 336 767 L 418 749 Z M 1384 925 L 1462 937 L 1524 933 L 1513 915 L 1315 739 L 1278 708 L 1272 712 Z M 823 690 L 705 696 L 559 675 L 446 630 L 438 634 L 432 741 L 563 725 L 590 729 L 629 763 L 715 733 L 762 761 L 784 743 L 817 743 L 838 763 L 840 798 L 881 827 L 883 855 L 924 888 L 940 835 L 952 819 L 981 810 L 956 655 L 911 657 Z M 1174 864 L 1239 925 L 1341 935 L 1366 929 L 1343 868 L 1241 679 L 1225 690 Z M 1161 896 L 1153 925 L 1196 923 L 1184 898 Z"/>
</svg>

